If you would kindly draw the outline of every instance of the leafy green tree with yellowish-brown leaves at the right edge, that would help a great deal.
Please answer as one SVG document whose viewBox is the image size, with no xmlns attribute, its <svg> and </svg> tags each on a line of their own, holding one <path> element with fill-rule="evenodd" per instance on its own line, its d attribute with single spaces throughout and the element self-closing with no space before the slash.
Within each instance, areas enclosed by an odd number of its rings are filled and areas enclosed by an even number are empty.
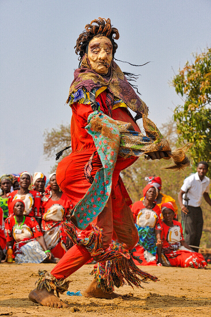
<svg viewBox="0 0 211 317">
<path fill-rule="evenodd" d="M 193 56 L 195 61 L 187 61 L 171 84 L 184 102 L 176 107 L 174 120 L 180 144 L 194 143 L 189 153 L 195 171 L 199 161 L 211 161 L 211 49 Z"/>
</svg>

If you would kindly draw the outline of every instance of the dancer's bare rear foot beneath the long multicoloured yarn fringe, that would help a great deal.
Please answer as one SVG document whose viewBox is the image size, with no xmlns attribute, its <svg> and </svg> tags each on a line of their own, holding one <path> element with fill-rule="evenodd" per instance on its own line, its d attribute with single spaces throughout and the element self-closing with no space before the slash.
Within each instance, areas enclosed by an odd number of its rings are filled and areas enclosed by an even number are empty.
<svg viewBox="0 0 211 317">
<path fill-rule="evenodd" d="M 97 286 L 97 281 L 95 278 L 91 281 L 88 287 L 84 291 L 85 297 L 95 297 L 95 298 L 105 298 L 105 299 L 113 299 L 118 297 L 123 297 L 123 295 L 116 294 L 114 292 L 106 293 L 100 287 Z"/>
</svg>

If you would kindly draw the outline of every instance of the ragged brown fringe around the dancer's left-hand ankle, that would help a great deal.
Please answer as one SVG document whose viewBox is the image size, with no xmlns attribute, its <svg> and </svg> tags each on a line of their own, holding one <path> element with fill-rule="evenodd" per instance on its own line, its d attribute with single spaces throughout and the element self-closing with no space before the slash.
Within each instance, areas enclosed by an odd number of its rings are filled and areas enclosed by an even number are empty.
<svg viewBox="0 0 211 317">
<path fill-rule="evenodd" d="M 69 287 L 70 281 L 57 280 L 53 275 L 46 270 L 41 270 L 41 268 L 38 270 L 38 275 L 40 278 L 35 282 L 36 289 L 40 286 L 41 289 L 43 287 L 47 288 L 48 292 L 55 290 L 59 297 L 59 293 L 63 294 Z"/>
</svg>

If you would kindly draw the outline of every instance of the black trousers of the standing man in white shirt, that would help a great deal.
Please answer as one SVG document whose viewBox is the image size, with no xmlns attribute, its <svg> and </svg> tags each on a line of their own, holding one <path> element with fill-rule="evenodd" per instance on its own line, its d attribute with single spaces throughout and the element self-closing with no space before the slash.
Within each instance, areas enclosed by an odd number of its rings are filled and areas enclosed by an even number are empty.
<svg viewBox="0 0 211 317">
<path fill-rule="evenodd" d="M 192 206 L 188 206 L 188 210 L 189 212 L 187 215 L 182 212 L 182 223 L 185 223 L 185 242 L 189 245 L 199 247 L 203 228 L 202 210 L 201 207 Z M 196 252 L 199 250 L 196 248 L 192 249 Z"/>
</svg>

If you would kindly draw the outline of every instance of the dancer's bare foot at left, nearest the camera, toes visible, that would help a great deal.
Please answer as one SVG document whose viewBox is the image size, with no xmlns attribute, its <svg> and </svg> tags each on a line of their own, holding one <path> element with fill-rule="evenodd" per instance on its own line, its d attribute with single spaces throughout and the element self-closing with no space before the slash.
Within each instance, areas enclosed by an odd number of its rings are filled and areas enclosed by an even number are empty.
<svg viewBox="0 0 211 317">
<path fill-rule="evenodd" d="M 33 289 L 29 293 L 29 299 L 30 301 L 33 301 L 33 303 L 39 303 L 42 306 L 48 306 L 48 307 L 54 307 L 54 308 L 64 308 L 68 307 L 63 301 L 61 301 L 57 296 L 54 295 L 54 291 L 48 292 L 48 290 L 43 287 L 42 289 Z"/>
</svg>

